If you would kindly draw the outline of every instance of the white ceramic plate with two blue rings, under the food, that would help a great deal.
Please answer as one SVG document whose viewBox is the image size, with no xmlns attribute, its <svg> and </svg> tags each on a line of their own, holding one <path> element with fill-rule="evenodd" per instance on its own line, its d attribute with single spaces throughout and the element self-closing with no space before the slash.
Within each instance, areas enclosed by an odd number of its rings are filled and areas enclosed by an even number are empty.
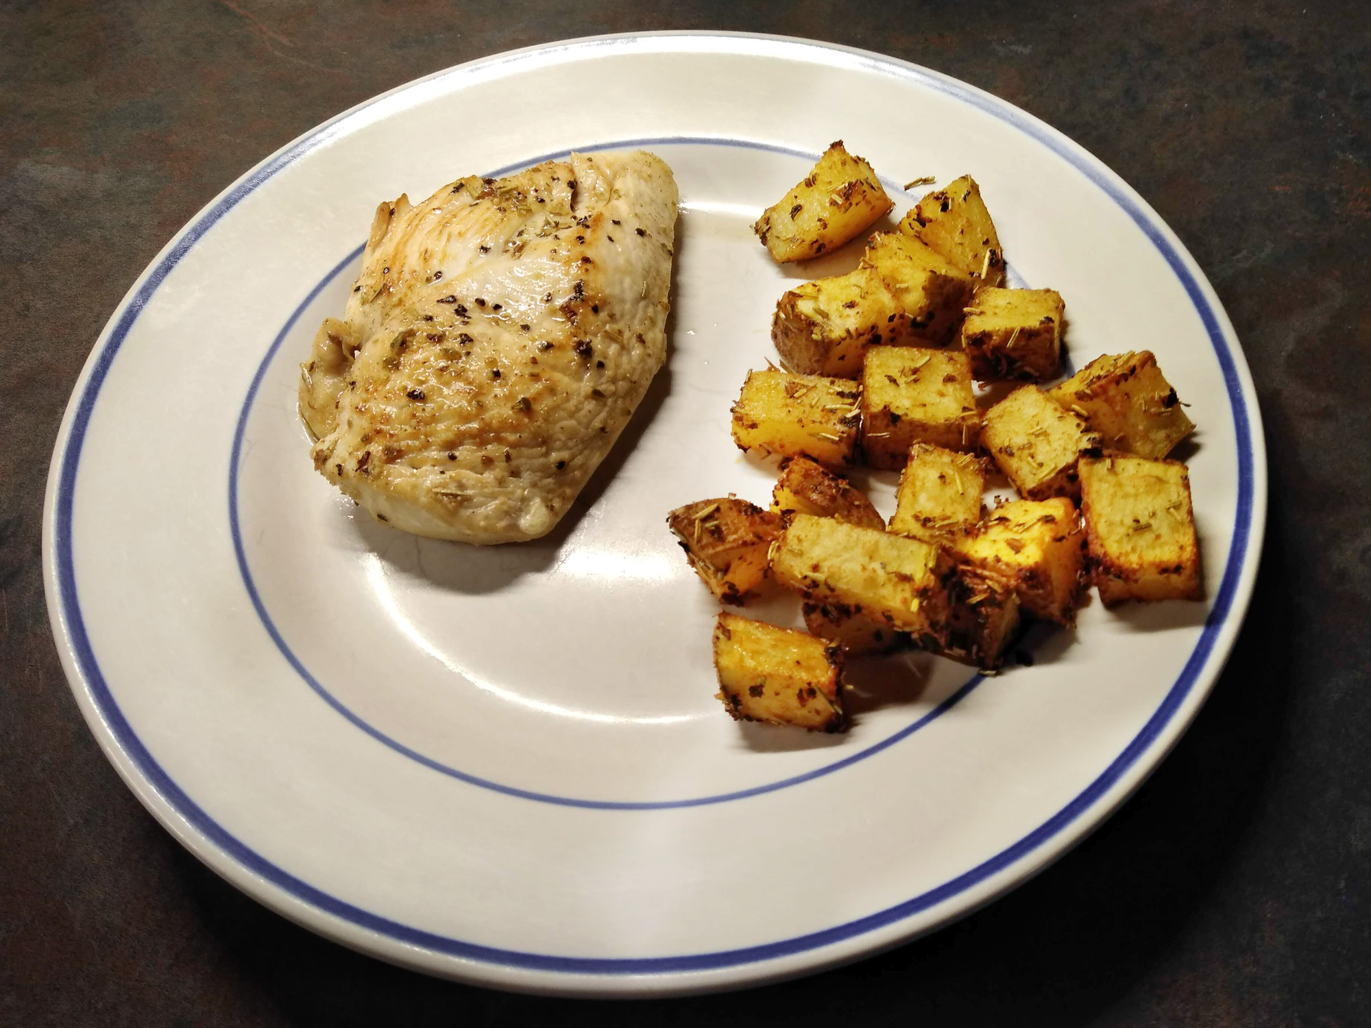
<svg viewBox="0 0 1371 1028">
<path fill-rule="evenodd" d="M 1153 350 L 1200 425 L 1208 602 L 1106 613 L 991 680 L 906 657 L 843 736 L 729 721 L 716 606 L 664 517 L 771 493 L 728 406 L 788 281 L 757 212 L 835 138 L 899 197 L 971 171 L 1078 362 Z M 381 199 L 573 148 L 646 147 L 681 191 L 672 350 L 550 539 L 474 548 L 358 517 L 310 466 L 298 363 Z M 873 480 L 890 509 L 890 480 Z M 795 975 L 946 924 L 1117 806 L 1190 722 L 1248 603 L 1265 510 L 1252 384 L 1157 215 L 1050 127 L 943 75 L 754 36 L 584 40 L 340 115 L 192 221 L 67 408 L 52 622 L 110 759 L 200 859 L 422 970 L 661 994 Z M 794 610 L 772 604 L 772 617 Z M 879 676 L 876 676 L 879 677 Z"/>
</svg>

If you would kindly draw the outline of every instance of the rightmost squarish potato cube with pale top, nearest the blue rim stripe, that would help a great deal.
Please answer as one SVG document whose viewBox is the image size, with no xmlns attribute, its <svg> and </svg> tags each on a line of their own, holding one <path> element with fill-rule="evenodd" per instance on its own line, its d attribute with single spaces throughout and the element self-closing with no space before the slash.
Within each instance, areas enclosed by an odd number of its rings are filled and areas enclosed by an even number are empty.
<svg viewBox="0 0 1371 1028">
<path fill-rule="evenodd" d="M 1100 599 L 1202 599 L 1190 474 L 1179 461 L 1104 456 L 1080 462 L 1091 577 Z"/>
</svg>

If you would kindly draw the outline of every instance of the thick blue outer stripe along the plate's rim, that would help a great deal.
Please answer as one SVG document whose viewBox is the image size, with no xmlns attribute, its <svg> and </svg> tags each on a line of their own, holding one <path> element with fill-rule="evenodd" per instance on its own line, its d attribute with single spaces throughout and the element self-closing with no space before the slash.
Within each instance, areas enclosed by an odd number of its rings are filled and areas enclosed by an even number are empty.
<svg viewBox="0 0 1371 1028">
<path fill-rule="evenodd" d="M 590 44 L 581 44 L 585 47 L 605 47 L 614 42 L 632 42 L 638 37 L 622 37 L 620 40 L 600 40 Z M 727 36 L 724 38 L 728 38 Z M 559 49 L 568 49 L 570 45 L 563 44 L 561 47 L 546 48 L 539 52 L 557 52 Z M 1194 304 L 1200 318 L 1209 334 L 1209 340 L 1213 345 L 1215 354 L 1217 356 L 1220 369 L 1223 371 L 1224 385 L 1228 392 L 1230 406 L 1233 408 L 1234 418 L 1234 433 L 1237 437 L 1237 451 L 1238 451 L 1238 504 L 1237 504 L 1237 519 L 1234 525 L 1233 544 L 1228 550 L 1228 559 L 1224 566 L 1224 573 L 1222 583 L 1219 585 L 1217 595 L 1215 598 L 1213 609 L 1205 621 L 1204 632 L 1196 648 L 1191 651 L 1189 661 L 1182 669 L 1180 676 L 1176 678 L 1175 684 L 1168 691 L 1165 699 L 1148 720 L 1138 735 L 1128 743 L 1127 747 L 1116 757 L 1108 768 L 1105 768 L 1101 774 L 1091 781 L 1080 794 L 1076 795 L 1067 806 L 1058 810 L 1053 817 L 1039 825 L 1036 829 L 1026 835 L 1019 842 L 1006 847 L 1001 853 L 995 854 L 990 859 L 982 862 L 980 865 L 964 872 L 962 874 L 951 879 L 950 881 L 938 885 L 936 888 L 928 890 L 912 899 L 898 903 L 886 910 L 869 914 L 854 921 L 847 921 L 832 928 L 823 929 L 820 932 L 812 932 L 802 936 L 795 936 L 791 939 L 784 939 L 775 943 L 766 943 L 762 946 L 753 946 L 736 950 L 721 950 L 714 953 L 702 954 L 687 954 L 680 957 L 646 957 L 646 958 L 587 958 L 587 957 L 559 957 L 559 955 L 546 955 L 536 953 L 524 953 L 517 950 L 503 950 L 488 946 L 478 946 L 476 943 L 462 942 L 459 939 L 450 939 L 447 936 L 435 935 L 432 932 L 420 931 L 409 925 L 398 924 L 389 918 L 378 917 L 370 911 L 362 910 L 352 906 L 336 896 L 330 896 L 321 890 L 310 885 L 306 881 L 295 877 L 282 868 L 271 864 L 260 854 L 244 846 L 239 839 L 230 835 L 222 825 L 219 825 L 214 818 L 211 818 L 200 806 L 195 803 L 162 769 L 162 766 L 154 759 L 152 754 L 147 750 L 143 742 L 133 732 L 123 713 L 119 710 L 118 703 L 114 700 L 110 687 L 100 672 L 99 663 L 96 662 L 95 652 L 90 647 L 90 639 L 86 633 L 86 628 L 81 615 L 80 600 L 77 596 L 75 587 L 75 566 L 73 559 L 73 546 L 71 546 L 71 518 L 75 493 L 77 472 L 80 466 L 81 450 L 85 440 L 85 432 L 89 426 L 90 415 L 95 408 L 95 402 L 99 396 L 100 387 L 108 374 L 110 365 L 112 363 L 115 355 L 118 354 L 125 337 L 129 333 L 133 322 L 137 319 L 138 314 L 147 306 L 147 302 L 156 292 L 158 286 L 165 281 L 167 274 L 175 267 L 175 265 L 185 256 L 185 254 L 195 245 L 195 243 L 204 236 L 229 210 L 239 204 L 245 196 L 248 196 L 254 189 L 256 189 L 262 182 L 269 180 L 282 167 L 298 160 L 304 154 L 310 152 L 328 138 L 330 138 L 336 132 L 341 129 L 344 122 L 354 117 L 359 110 L 356 108 L 350 114 L 340 115 L 339 119 L 329 122 L 310 136 L 302 138 L 299 143 L 292 145 L 289 149 L 281 152 L 276 158 L 267 160 L 262 167 L 248 174 L 237 186 L 228 192 L 219 199 L 200 219 L 191 225 L 185 234 L 170 248 L 170 251 L 163 256 L 159 263 L 148 274 L 147 280 L 138 286 L 134 295 L 129 299 L 128 306 L 119 314 L 110 332 L 104 348 L 97 355 L 95 363 L 90 369 L 90 377 L 81 392 L 81 397 L 77 403 L 75 413 L 71 419 L 71 428 L 67 437 L 66 447 L 60 456 L 60 470 L 56 488 L 56 503 L 55 503 L 55 518 L 53 518 L 53 548 L 56 551 L 55 565 L 56 577 L 59 585 L 59 599 L 60 610 L 66 621 L 66 629 L 70 637 L 71 651 L 75 658 L 77 666 L 80 668 L 85 685 L 89 691 L 90 699 L 99 711 L 100 717 L 108 725 L 111 735 L 118 742 L 119 747 L 133 762 L 133 765 L 141 772 L 141 774 L 148 780 L 148 783 L 156 790 L 159 796 L 175 810 L 182 818 L 186 820 L 200 835 L 207 840 L 214 843 L 219 850 L 233 858 L 237 864 L 247 868 L 255 874 L 259 874 L 266 881 L 271 883 L 274 887 L 282 890 L 288 895 L 299 899 L 310 906 L 317 907 L 328 914 L 339 917 L 348 921 L 359 928 L 377 932 L 383 936 L 393 939 L 410 946 L 418 946 L 433 953 L 446 954 L 451 957 L 458 957 L 463 959 L 473 959 L 484 964 L 496 964 L 509 968 L 521 968 L 529 970 L 553 970 L 569 975 L 646 975 L 646 973 L 681 973 L 681 972 L 702 972 L 714 970 L 721 968 L 736 966 L 742 964 L 753 964 L 757 961 L 775 959 L 779 957 L 788 957 L 806 950 L 813 950 L 823 946 L 829 946 L 854 936 L 883 928 L 886 925 L 901 921 L 912 914 L 927 910 L 938 903 L 942 903 L 960 892 L 984 881 L 990 876 L 999 870 L 1009 868 L 1017 859 L 1030 854 L 1032 850 L 1038 848 L 1054 835 L 1061 832 L 1072 821 L 1075 821 L 1080 814 L 1090 809 L 1098 799 L 1101 799 L 1112 785 L 1115 785 L 1121 776 L 1146 752 L 1152 743 L 1160 736 L 1163 729 L 1169 724 L 1171 718 L 1175 715 L 1176 710 L 1180 707 L 1190 689 L 1193 688 L 1196 678 L 1204 669 L 1219 633 L 1219 629 L 1226 624 L 1230 610 L 1233 609 L 1233 600 L 1237 592 L 1238 580 L 1242 574 L 1245 566 L 1248 547 L 1252 536 L 1252 518 L 1254 513 L 1254 456 L 1252 450 L 1252 419 L 1248 414 L 1246 404 L 1242 396 L 1242 387 L 1238 377 L 1237 365 L 1234 362 L 1233 354 L 1227 348 L 1227 343 L 1223 336 L 1223 329 L 1219 323 L 1219 317 L 1209 307 L 1208 300 L 1204 296 L 1204 291 L 1200 282 L 1190 273 L 1186 266 L 1185 259 L 1172 247 L 1165 233 L 1146 215 L 1146 212 L 1124 192 L 1121 192 L 1109 178 L 1109 175 L 1102 174 L 1100 169 L 1093 167 L 1093 158 L 1084 155 L 1083 151 L 1078 152 L 1075 144 L 1069 144 L 1064 137 L 1058 137 L 1053 130 L 1047 129 L 1035 119 L 1028 118 L 1023 112 L 1010 107 L 1009 104 L 995 100 L 988 95 L 983 95 L 979 90 L 968 88 L 954 79 L 947 79 L 942 75 L 936 75 L 928 71 L 914 69 L 913 66 L 906 66 L 895 60 L 882 60 L 875 56 L 854 53 L 843 48 L 835 47 L 820 47 L 812 42 L 792 41 L 797 48 L 813 48 L 825 52 L 842 52 L 849 58 L 854 59 L 858 64 L 873 70 L 879 74 L 891 75 L 894 78 L 902 78 L 905 81 L 917 82 L 925 88 L 935 89 L 938 92 L 950 95 L 964 103 L 976 107 L 993 117 L 1004 121 L 1005 123 L 1019 129 L 1027 136 L 1032 137 L 1042 145 L 1047 147 L 1064 162 L 1075 167 L 1078 171 L 1084 174 L 1091 182 L 1094 182 L 1106 196 L 1109 196 L 1126 214 L 1142 229 L 1142 232 L 1152 240 L 1153 245 L 1161 252 L 1167 263 L 1171 266 L 1176 277 L 1180 280 L 1186 289 L 1187 296 Z M 465 69 L 484 67 L 492 62 L 507 62 L 510 58 L 495 58 L 491 62 L 476 62 L 474 64 L 463 66 L 450 73 L 443 74 L 458 74 Z M 373 101 L 374 103 L 374 101 Z M 369 106 L 369 104 L 367 104 Z M 703 140 L 702 140 L 703 141 Z M 350 258 L 352 259 L 352 258 Z"/>
</svg>

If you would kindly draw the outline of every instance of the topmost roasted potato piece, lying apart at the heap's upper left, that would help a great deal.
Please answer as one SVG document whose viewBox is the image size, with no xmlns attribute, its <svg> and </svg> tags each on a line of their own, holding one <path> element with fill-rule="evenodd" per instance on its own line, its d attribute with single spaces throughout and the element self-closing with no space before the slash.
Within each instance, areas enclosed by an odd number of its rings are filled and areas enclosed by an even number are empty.
<svg viewBox="0 0 1371 1028">
<path fill-rule="evenodd" d="M 838 140 L 805 181 L 753 225 L 773 260 L 803 260 L 857 238 L 894 207 L 876 173 Z"/>
</svg>

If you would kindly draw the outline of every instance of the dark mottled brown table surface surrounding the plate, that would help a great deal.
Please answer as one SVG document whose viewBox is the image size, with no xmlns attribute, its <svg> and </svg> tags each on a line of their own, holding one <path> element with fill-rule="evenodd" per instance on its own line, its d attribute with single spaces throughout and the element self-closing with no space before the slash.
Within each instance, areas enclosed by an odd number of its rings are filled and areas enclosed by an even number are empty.
<svg viewBox="0 0 1371 1028">
<path fill-rule="evenodd" d="M 324 942 L 144 813 L 58 665 L 43 491 L 119 297 L 251 164 L 450 64 L 646 29 L 906 58 L 1097 154 L 1175 228 L 1237 325 L 1271 518 L 1252 614 L 1198 721 L 1027 887 L 791 984 L 535 999 Z M 1364 0 L 0 4 L 0 1024 L 1371 1024 L 1368 42 Z"/>
</svg>

